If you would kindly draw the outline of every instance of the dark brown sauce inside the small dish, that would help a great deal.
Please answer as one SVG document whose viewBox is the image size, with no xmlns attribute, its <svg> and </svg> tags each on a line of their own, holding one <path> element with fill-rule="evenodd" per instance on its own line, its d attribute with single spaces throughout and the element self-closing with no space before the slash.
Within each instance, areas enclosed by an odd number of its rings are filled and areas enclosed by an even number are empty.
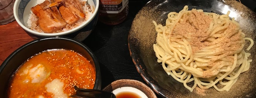
<svg viewBox="0 0 256 98">
<path fill-rule="evenodd" d="M 116 94 L 116 98 L 141 98 L 140 95 L 130 92 L 130 91 L 123 91 Z"/>
</svg>

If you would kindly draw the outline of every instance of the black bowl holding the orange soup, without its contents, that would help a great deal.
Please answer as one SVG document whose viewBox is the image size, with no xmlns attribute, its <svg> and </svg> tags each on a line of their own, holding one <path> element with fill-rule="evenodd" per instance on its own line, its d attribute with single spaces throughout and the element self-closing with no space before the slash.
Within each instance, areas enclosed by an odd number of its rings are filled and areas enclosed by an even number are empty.
<svg viewBox="0 0 256 98">
<path fill-rule="evenodd" d="M 31 41 L 15 50 L 0 66 L 0 98 L 7 97 L 7 89 L 12 75 L 29 57 L 47 49 L 69 49 L 81 53 L 95 68 L 96 80 L 93 89 L 101 89 L 100 66 L 86 45 L 67 37 L 45 37 Z"/>
</svg>

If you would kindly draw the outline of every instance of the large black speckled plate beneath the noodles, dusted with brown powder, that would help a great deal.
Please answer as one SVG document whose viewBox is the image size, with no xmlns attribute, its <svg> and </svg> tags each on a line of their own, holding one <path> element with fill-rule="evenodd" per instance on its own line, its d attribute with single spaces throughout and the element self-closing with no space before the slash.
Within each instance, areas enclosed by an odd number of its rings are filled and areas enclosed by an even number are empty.
<svg viewBox="0 0 256 98">
<path fill-rule="evenodd" d="M 168 76 L 162 65 L 157 63 L 153 51 L 157 33 L 152 20 L 164 26 L 167 14 L 173 11 L 179 12 L 185 5 L 189 6 L 189 10 L 196 8 L 217 14 L 226 14 L 230 11 L 229 16 L 234 17 L 240 23 L 246 37 L 255 40 L 256 14 L 235 0 L 152 0 L 138 12 L 129 33 L 130 54 L 142 78 L 161 97 L 255 97 L 256 60 L 253 60 L 248 71 L 239 76 L 229 91 L 219 92 L 214 88 L 209 88 L 204 91 L 203 95 L 200 92 L 187 90 L 182 83 Z M 249 51 L 252 53 L 251 59 L 256 57 L 255 50 L 254 45 Z"/>
</svg>

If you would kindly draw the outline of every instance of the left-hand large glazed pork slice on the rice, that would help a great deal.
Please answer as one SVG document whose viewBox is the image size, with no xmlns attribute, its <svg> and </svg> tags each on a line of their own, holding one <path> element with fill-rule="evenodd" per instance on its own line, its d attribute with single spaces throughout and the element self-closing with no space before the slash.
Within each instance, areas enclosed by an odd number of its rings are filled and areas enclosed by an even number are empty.
<svg viewBox="0 0 256 98">
<path fill-rule="evenodd" d="M 62 19 L 57 7 L 43 9 L 46 5 L 51 4 L 50 1 L 45 0 L 31 8 L 31 11 L 39 18 L 38 24 L 45 33 L 53 33 L 66 26 L 66 22 Z"/>
</svg>

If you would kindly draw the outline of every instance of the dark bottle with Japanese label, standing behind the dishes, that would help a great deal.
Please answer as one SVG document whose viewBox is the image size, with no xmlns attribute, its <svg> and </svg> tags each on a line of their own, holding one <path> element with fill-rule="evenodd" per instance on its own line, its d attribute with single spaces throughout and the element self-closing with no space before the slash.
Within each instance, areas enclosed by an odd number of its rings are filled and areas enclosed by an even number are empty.
<svg viewBox="0 0 256 98">
<path fill-rule="evenodd" d="M 123 22 L 128 15 L 129 0 L 100 0 L 99 21 L 115 25 Z"/>
</svg>

